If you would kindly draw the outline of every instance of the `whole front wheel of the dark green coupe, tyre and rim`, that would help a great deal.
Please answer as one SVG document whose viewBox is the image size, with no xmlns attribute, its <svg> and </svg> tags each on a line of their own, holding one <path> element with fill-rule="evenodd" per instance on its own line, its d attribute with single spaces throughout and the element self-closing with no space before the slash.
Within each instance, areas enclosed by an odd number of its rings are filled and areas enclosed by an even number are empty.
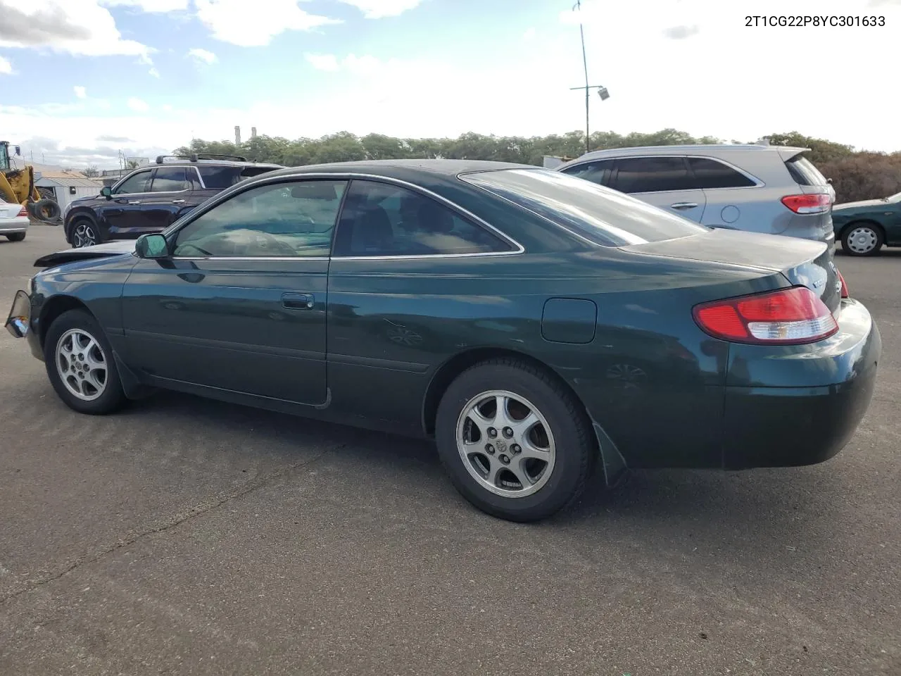
<svg viewBox="0 0 901 676">
<path fill-rule="evenodd" d="M 68 310 L 50 324 L 44 362 L 59 398 L 79 413 L 113 413 L 126 401 L 113 348 L 84 310 Z"/>
</svg>

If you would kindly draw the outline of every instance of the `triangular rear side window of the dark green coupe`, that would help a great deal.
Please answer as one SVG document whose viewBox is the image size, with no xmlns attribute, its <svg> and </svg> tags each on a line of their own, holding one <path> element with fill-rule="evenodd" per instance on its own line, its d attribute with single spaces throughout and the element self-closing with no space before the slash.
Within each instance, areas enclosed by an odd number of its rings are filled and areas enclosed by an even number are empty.
<svg viewBox="0 0 901 676">
<path fill-rule="evenodd" d="M 430 196 L 376 181 L 350 184 L 335 256 L 423 256 L 511 251 L 480 225 Z"/>
</svg>

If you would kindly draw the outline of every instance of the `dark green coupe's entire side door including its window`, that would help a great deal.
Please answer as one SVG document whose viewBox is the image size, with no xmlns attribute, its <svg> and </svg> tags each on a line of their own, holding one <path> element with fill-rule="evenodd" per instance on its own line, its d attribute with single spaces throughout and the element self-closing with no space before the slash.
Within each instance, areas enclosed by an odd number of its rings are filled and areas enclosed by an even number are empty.
<svg viewBox="0 0 901 676">
<path fill-rule="evenodd" d="M 342 180 L 256 184 L 168 233 L 123 288 L 129 361 L 169 387 L 327 399 L 326 292 Z"/>
</svg>

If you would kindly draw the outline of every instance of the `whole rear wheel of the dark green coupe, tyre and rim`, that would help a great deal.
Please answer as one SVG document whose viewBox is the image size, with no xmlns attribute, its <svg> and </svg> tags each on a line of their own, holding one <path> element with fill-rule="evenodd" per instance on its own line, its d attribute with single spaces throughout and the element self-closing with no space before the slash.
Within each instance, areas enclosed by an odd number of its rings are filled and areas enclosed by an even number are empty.
<svg viewBox="0 0 901 676">
<path fill-rule="evenodd" d="M 441 462 L 463 497 L 493 516 L 537 521 L 572 504 L 596 445 L 578 400 L 524 361 L 484 361 L 441 397 Z"/>
</svg>

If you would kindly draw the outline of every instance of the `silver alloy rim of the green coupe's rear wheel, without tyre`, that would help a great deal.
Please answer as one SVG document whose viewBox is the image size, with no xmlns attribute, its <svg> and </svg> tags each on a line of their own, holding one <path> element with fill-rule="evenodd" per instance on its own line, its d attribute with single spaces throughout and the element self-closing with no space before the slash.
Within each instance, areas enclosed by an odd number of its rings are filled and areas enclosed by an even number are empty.
<svg viewBox="0 0 901 676">
<path fill-rule="evenodd" d="M 478 484 L 504 498 L 525 498 L 550 480 L 551 426 L 524 397 L 498 389 L 472 397 L 457 421 L 457 449 Z"/>
</svg>

